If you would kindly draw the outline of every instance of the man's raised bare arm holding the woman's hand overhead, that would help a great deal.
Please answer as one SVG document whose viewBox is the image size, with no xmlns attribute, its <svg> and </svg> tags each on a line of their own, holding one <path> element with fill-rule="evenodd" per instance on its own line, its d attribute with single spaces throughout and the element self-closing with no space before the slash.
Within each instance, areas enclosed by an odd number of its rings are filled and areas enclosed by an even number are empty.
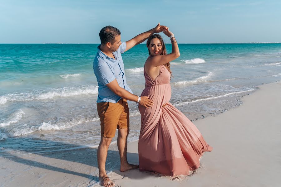
<svg viewBox="0 0 281 187">
<path fill-rule="evenodd" d="M 132 47 L 134 47 L 134 46 L 140 44 L 141 42 L 145 41 L 149 36 L 153 35 L 154 33 L 162 32 L 165 29 L 167 29 L 166 26 L 160 25 L 160 23 L 158 23 L 158 25 L 156 27 L 154 27 L 153 29 L 150 29 L 149 31 L 141 33 L 138 36 L 135 36 L 131 40 L 126 41 L 127 46 L 126 46 L 125 51 L 127 51 L 127 50 L 131 49 Z"/>
</svg>

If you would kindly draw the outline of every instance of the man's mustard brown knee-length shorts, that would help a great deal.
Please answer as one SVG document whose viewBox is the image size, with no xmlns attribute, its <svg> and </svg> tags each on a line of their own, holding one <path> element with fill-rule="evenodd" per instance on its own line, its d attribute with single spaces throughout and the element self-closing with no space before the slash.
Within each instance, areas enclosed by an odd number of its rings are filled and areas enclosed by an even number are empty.
<svg viewBox="0 0 281 187">
<path fill-rule="evenodd" d="M 101 120 L 101 136 L 113 138 L 116 129 L 129 127 L 129 107 L 126 99 L 117 103 L 96 103 Z"/>
</svg>

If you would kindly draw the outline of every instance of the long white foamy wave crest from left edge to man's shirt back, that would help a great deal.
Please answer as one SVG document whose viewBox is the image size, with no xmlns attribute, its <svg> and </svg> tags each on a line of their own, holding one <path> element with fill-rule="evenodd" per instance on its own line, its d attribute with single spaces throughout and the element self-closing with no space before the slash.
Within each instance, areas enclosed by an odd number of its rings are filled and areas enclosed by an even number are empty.
<svg viewBox="0 0 281 187">
<path fill-rule="evenodd" d="M 2 95 L 0 97 L 0 104 L 8 101 L 31 101 L 31 100 L 45 100 L 55 97 L 69 97 L 76 95 L 97 94 L 98 86 L 82 85 L 78 87 L 63 87 L 57 89 L 35 90 L 29 93 L 12 93 Z"/>
</svg>

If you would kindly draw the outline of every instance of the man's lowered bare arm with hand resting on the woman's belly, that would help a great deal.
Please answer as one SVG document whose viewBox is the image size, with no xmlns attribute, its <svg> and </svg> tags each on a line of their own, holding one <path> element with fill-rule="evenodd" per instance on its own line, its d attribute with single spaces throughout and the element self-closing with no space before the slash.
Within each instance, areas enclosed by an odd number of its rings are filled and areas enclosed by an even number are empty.
<svg viewBox="0 0 281 187">
<path fill-rule="evenodd" d="M 112 82 L 106 84 L 106 86 L 111 89 L 112 92 L 114 92 L 116 95 L 120 96 L 123 99 L 127 99 L 130 101 L 137 102 L 139 97 L 137 95 L 134 95 L 130 92 L 128 92 L 126 89 L 121 88 L 117 82 L 117 80 L 113 80 Z M 141 96 L 141 101 L 139 102 L 140 105 L 145 106 L 146 108 L 151 107 L 153 105 L 153 101 L 148 99 L 147 96 Z"/>
</svg>

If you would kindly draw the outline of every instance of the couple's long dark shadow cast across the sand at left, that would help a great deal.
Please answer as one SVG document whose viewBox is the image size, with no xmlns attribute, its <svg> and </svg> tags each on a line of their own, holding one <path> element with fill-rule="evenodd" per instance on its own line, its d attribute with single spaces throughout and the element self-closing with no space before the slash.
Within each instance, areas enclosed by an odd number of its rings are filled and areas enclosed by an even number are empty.
<svg viewBox="0 0 281 187">
<path fill-rule="evenodd" d="M 28 160 L 33 157 L 29 157 L 28 159 L 22 158 L 26 154 L 36 154 L 48 158 L 54 158 L 54 159 L 89 165 L 95 167 L 96 171 L 98 171 L 97 156 L 96 156 L 97 148 L 89 148 L 81 145 L 67 144 L 65 142 L 43 140 L 39 138 L 26 138 L 26 137 L 9 138 L 7 140 L 3 140 L 0 142 L 0 146 L 1 146 L 0 156 L 9 159 L 11 161 L 21 163 L 24 165 L 30 165 L 33 167 L 43 168 L 47 170 L 59 171 L 66 174 L 78 175 L 90 180 L 98 181 L 98 173 L 96 173 L 95 175 L 89 175 L 89 174 L 79 173 L 52 165 L 47 165 L 35 160 Z M 117 147 L 117 145 L 114 144 L 111 145 L 110 147 L 114 147 L 114 146 Z M 60 149 L 64 149 L 64 150 L 60 150 Z M 127 153 L 127 157 L 129 162 L 132 160 L 138 161 L 138 154 L 136 153 Z M 120 168 L 119 152 L 109 150 L 106 160 L 106 170 L 107 171 L 114 170 L 114 172 L 116 172 L 117 174 L 125 176 L 126 172 L 120 172 L 119 168 Z M 139 171 L 137 170 L 137 172 Z M 137 178 L 139 179 L 139 176 Z"/>
</svg>

